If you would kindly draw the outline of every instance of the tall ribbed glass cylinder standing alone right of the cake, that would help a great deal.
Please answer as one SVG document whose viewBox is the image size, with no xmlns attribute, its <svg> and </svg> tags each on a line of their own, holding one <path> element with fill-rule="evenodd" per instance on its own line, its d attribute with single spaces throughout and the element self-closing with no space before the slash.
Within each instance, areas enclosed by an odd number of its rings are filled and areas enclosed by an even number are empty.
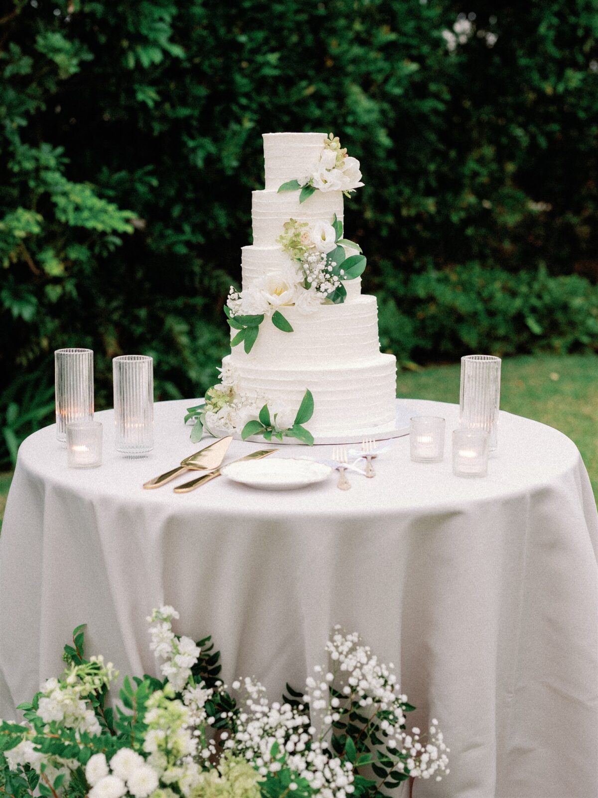
<svg viewBox="0 0 598 798">
<path fill-rule="evenodd" d="M 501 362 L 501 358 L 490 354 L 461 358 L 459 421 L 466 429 L 486 430 L 490 434 L 490 451 L 498 446 Z"/>
</svg>

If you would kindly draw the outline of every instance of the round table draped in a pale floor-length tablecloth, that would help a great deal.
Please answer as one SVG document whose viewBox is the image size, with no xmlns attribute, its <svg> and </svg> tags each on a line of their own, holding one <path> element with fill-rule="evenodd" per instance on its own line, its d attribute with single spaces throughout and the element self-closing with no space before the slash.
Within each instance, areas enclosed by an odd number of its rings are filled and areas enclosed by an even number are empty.
<svg viewBox="0 0 598 798">
<path fill-rule="evenodd" d="M 271 697 L 324 664 L 340 623 L 395 662 L 413 723 L 445 733 L 450 776 L 413 796 L 596 794 L 598 517 L 571 440 L 501 413 L 488 476 L 459 478 L 458 408 L 409 400 L 447 418 L 443 462 L 411 463 L 404 437 L 347 492 L 335 475 L 292 492 L 225 477 L 144 491 L 201 448 L 183 426 L 194 403 L 155 405 L 144 460 L 115 452 L 112 411 L 96 414 L 100 468 L 67 468 L 53 426 L 22 444 L 0 537 L 0 716 L 61 670 L 79 623 L 89 653 L 154 674 L 145 617 L 171 604 L 179 633 L 214 636 L 226 681 L 254 675 Z M 256 448 L 234 441 L 227 460 Z"/>
</svg>

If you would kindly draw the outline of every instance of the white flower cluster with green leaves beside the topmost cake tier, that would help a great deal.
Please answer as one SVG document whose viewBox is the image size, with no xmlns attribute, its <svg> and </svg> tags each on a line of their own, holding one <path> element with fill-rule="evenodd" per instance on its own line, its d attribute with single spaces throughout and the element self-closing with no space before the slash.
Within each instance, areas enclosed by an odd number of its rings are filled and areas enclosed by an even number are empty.
<svg viewBox="0 0 598 798">
<path fill-rule="evenodd" d="M 360 162 L 347 155 L 346 148 L 340 146 L 338 136 L 325 137 L 320 160 L 311 175 L 299 177 L 283 183 L 279 192 L 301 191 L 299 202 L 305 202 L 314 192 L 343 192 L 351 196 L 361 183 Z"/>
</svg>

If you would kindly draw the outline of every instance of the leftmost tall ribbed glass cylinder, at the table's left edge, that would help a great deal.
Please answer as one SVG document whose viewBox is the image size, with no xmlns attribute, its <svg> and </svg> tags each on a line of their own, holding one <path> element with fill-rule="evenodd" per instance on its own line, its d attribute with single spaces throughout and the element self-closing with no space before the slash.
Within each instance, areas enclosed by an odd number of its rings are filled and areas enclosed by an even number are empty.
<svg viewBox="0 0 598 798">
<path fill-rule="evenodd" d="M 93 420 L 93 350 L 54 352 L 54 393 L 56 437 L 64 443 L 70 421 Z"/>
</svg>

